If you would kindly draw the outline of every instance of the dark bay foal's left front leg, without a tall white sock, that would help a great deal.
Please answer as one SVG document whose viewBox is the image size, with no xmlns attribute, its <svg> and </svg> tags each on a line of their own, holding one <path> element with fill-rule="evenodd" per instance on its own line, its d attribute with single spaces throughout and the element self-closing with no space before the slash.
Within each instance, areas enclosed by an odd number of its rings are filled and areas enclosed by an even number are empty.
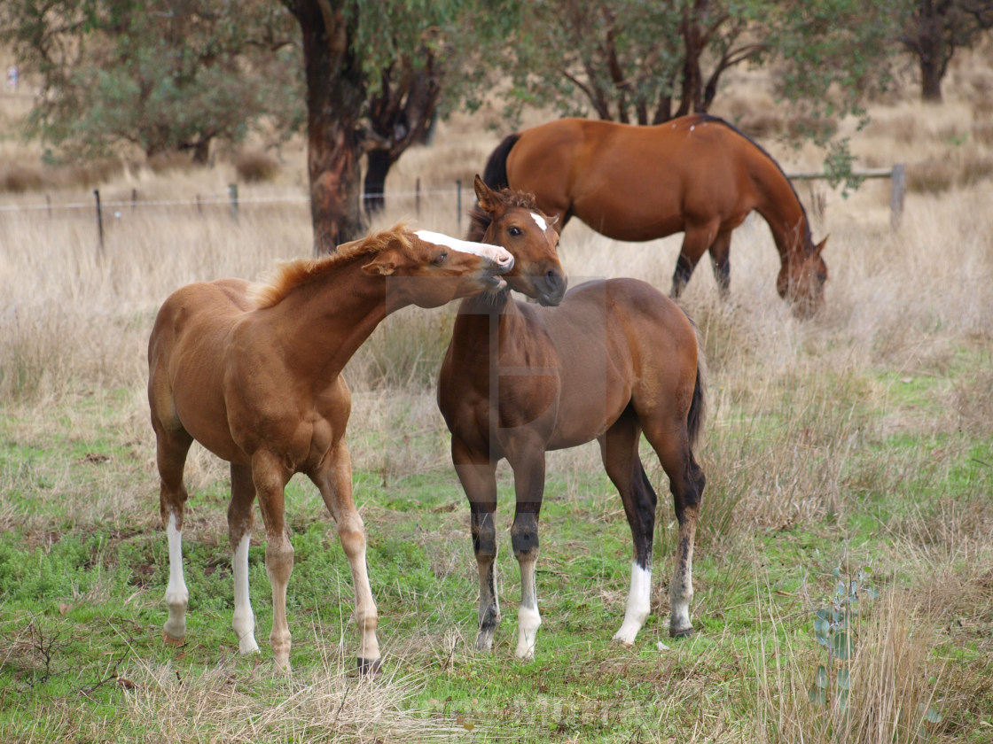
<svg viewBox="0 0 993 744">
<path fill-rule="evenodd" d="M 499 623 L 497 596 L 497 463 L 452 436 L 452 462 L 469 499 L 473 552 L 480 575 L 480 629 L 476 648 L 492 651 Z"/>
</svg>

